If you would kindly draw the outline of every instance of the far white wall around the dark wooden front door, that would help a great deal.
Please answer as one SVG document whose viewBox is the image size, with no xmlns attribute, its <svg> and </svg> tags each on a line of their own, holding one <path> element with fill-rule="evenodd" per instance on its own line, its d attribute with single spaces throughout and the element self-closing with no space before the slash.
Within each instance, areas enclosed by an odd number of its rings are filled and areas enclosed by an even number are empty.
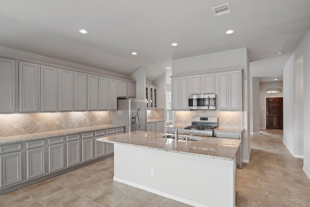
<svg viewBox="0 0 310 207">
<path fill-rule="evenodd" d="M 269 88 L 283 89 L 283 81 L 261 82 L 260 83 L 260 94 L 259 94 L 260 128 L 266 128 L 266 97 L 283 97 L 282 93 L 281 94 L 266 94 L 266 90 Z"/>
</svg>

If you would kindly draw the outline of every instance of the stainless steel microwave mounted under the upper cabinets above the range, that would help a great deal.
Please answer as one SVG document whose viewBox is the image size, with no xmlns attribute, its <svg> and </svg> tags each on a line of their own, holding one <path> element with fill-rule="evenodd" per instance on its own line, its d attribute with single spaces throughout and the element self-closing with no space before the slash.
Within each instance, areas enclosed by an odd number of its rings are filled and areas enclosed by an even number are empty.
<svg viewBox="0 0 310 207">
<path fill-rule="evenodd" d="M 189 95 L 188 96 L 188 109 L 189 110 L 216 110 L 217 109 L 217 96 L 210 95 Z"/>
</svg>

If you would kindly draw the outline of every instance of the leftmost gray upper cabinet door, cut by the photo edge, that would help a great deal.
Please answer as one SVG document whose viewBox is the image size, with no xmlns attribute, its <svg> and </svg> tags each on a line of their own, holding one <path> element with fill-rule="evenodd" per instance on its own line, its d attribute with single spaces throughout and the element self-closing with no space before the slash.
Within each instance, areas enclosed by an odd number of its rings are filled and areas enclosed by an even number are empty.
<svg viewBox="0 0 310 207">
<path fill-rule="evenodd" d="M 0 58 L 0 112 L 16 112 L 15 60 Z"/>
</svg>

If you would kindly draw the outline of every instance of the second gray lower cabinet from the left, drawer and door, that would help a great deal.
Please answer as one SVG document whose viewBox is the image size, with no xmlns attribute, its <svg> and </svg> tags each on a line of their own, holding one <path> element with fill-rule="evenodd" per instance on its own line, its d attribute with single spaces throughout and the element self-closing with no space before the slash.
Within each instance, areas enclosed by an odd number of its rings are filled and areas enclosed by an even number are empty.
<svg viewBox="0 0 310 207">
<path fill-rule="evenodd" d="M 45 140 L 26 142 L 26 180 L 46 174 Z"/>
</svg>

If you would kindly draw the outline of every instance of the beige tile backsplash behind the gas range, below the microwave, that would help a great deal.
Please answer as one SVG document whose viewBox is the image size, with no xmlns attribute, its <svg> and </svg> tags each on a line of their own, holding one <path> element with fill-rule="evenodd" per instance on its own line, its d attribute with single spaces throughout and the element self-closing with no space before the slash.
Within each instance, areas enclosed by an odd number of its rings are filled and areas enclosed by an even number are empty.
<svg viewBox="0 0 310 207">
<path fill-rule="evenodd" d="M 175 125 L 191 125 L 192 116 L 217 116 L 219 127 L 243 128 L 243 111 L 174 111 Z"/>
</svg>

